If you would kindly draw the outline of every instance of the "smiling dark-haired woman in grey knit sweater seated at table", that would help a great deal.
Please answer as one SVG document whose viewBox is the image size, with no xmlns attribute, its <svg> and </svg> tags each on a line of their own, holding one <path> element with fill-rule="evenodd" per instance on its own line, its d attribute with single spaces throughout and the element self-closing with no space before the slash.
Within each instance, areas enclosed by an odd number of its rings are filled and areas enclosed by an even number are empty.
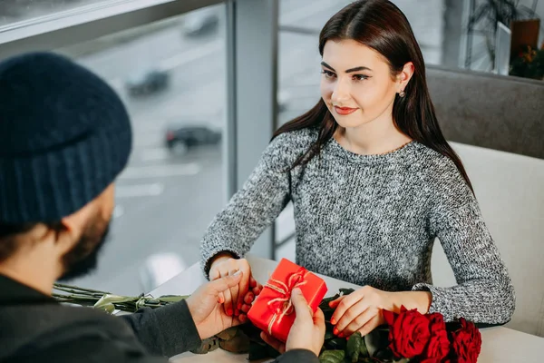
<svg viewBox="0 0 544 363">
<path fill-rule="evenodd" d="M 384 323 L 382 309 L 402 305 L 448 321 L 509 321 L 508 271 L 442 135 L 406 17 L 386 0 L 356 1 L 326 23 L 319 52 L 322 99 L 276 132 L 209 226 L 209 278 L 238 269 L 249 276 L 240 258 L 293 201 L 297 263 L 364 286 L 333 303 L 338 336 L 366 334 Z M 435 237 L 457 286 L 432 285 Z M 231 290 L 229 313 L 241 309 L 247 285 Z"/>
</svg>

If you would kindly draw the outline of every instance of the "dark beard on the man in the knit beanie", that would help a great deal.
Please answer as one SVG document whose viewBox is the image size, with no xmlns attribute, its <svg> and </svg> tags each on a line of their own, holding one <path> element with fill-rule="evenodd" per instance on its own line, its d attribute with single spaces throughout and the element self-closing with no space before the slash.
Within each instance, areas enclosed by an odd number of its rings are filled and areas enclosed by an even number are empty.
<svg viewBox="0 0 544 363">
<path fill-rule="evenodd" d="M 63 256 L 64 273 L 60 281 L 82 277 L 96 269 L 98 255 L 105 244 L 110 223 L 97 216 L 83 231 L 82 238 Z"/>
</svg>

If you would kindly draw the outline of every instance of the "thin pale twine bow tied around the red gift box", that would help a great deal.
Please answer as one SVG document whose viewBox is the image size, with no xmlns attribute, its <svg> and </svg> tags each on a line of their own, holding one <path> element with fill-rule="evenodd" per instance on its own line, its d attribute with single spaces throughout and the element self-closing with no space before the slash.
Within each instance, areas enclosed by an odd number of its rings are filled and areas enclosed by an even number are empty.
<svg viewBox="0 0 544 363">
<path fill-rule="evenodd" d="M 278 298 L 268 301 L 268 306 L 274 311 L 272 318 L 268 322 L 269 335 L 272 335 L 272 327 L 275 323 L 279 324 L 281 319 L 283 319 L 286 315 L 292 314 L 295 310 L 293 308 L 293 304 L 291 303 L 291 292 L 293 289 L 299 288 L 306 284 L 305 277 L 307 272 L 308 271 L 305 268 L 301 267 L 295 273 L 292 273 L 289 276 L 287 283 L 280 280 L 270 279 L 265 284 L 265 287 L 277 291 L 280 295 Z M 273 307 L 273 305 L 276 305 L 276 307 Z"/>
</svg>

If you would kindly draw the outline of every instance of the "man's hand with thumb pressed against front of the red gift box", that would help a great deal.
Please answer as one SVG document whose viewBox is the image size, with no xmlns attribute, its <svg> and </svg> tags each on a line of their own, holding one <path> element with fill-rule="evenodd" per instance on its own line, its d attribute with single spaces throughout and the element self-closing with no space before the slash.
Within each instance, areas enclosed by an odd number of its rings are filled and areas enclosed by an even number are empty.
<svg viewBox="0 0 544 363">
<path fill-rule="evenodd" d="M 291 301 L 295 307 L 296 319 L 289 331 L 287 343 L 283 344 L 264 331 L 261 333 L 261 338 L 280 353 L 291 349 L 308 349 L 313 351 L 316 356 L 319 356 L 325 342 L 325 316 L 323 311 L 317 308 L 316 313 L 313 313 L 300 289 L 293 289 Z"/>
</svg>

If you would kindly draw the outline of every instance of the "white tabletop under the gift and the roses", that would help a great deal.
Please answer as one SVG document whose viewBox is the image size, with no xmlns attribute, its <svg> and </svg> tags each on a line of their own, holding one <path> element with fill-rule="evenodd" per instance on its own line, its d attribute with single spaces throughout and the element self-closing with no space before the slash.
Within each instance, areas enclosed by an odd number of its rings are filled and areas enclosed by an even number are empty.
<svg viewBox="0 0 544 363">
<path fill-rule="evenodd" d="M 248 262 L 256 280 L 267 281 L 269 275 L 276 269 L 277 261 L 262 259 L 248 255 Z M 319 275 L 326 282 L 329 289 L 327 296 L 334 295 L 340 288 L 358 288 L 358 286 L 341 280 L 335 280 Z M 189 295 L 207 280 L 204 278 L 199 263 L 184 270 L 159 288 L 151 291 L 151 295 Z M 478 359 L 482 363 L 510 363 L 510 362 L 539 362 L 541 351 L 544 348 L 544 338 L 533 336 L 517 330 L 504 327 L 481 329 L 481 354 Z M 170 360 L 176 363 L 217 362 L 217 363 L 247 363 L 247 354 L 231 354 L 217 349 L 206 355 L 183 353 Z M 302 362 L 301 362 L 302 363 Z"/>
</svg>

